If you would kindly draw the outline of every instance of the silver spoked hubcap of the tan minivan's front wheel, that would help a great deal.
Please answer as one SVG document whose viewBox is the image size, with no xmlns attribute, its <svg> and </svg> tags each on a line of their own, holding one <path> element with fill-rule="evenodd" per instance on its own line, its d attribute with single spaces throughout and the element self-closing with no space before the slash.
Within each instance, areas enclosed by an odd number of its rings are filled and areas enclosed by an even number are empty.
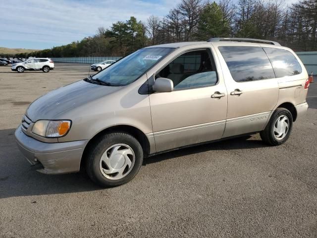
<svg viewBox="0 0 317 238">
<path fill-rule="evenodd" d="M 122 179 L 131 172 L 134 161 L 135 155 L 130 146 L 115 144 L 102 155 L 100 171 L 107 179 Z"/>
</svg>

